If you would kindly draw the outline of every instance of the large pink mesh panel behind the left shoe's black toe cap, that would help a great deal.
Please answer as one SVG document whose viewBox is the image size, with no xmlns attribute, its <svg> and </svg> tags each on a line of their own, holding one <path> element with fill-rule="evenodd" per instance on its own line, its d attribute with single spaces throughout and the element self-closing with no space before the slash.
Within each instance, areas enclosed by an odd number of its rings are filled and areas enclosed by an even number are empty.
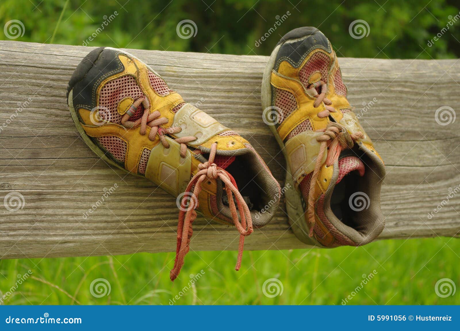
<svg viewBox="0 0 460 331">
<path fill-rule="evenodd" d="M 144 94 L 136 83 L 136 79 L 132 76 L 122 76 L 117 79 L 107 82 L 101 89 L 99 95 L 99 110 L 101 118 L 109 119 L 112 123 L 120 123 L 121 115 L 118 113 L 118 103 L 126 98 L 132 97 L 138 99 Z M 101 114 L 101 112 L 109 112 Z"/>
</svg>

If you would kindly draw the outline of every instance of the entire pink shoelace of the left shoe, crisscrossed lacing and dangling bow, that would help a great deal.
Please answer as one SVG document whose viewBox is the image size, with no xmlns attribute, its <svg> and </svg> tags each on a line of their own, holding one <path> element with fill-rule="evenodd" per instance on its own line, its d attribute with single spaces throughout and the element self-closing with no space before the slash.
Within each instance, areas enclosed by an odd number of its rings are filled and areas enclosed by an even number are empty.
<svg viewBox="0 0 460 331">
<path fill-rule="evenodd" d="M 168 119 L 165 117 L 160 117 L 161 114 L 159 111 L 152 112 L 149 114 L 149 107 L 144 107 L 144 114 L 141 118 L 136 121 L 130 121 L 132 115 L 136 112 L 137 108 L 141 105 L 142 102 L 146 101 L 145 98 L 137 99 L 133 102 L 131 107 L 121 118 L 121 124 L 128 129 L 134 129 L 140 126 L 140 134 L 145 135 L 147 131 L 147 126 L 150 126 L 149 139 L 155 140 L 155 136 L 158 134 L 160 137 L 161 143 L 165 148 L 169 148 L 169 143 L 167 142 L 165 135 L 178 133 L 182 130 L 180 127 L 171 127 L 168 129 L 163 129 L 160 127 L 162 124 L 168 123 Z M 185 152 L 187 151 L 187 142 L 196 140 L 194 136 L 187 136 L 174 139 L 180 144 L 180 155 L 181 157 L 186 157 Z M 171 270 L 170 278 L 171 281 L 174 281 L 179 275 L 180 269 L 184 265 L 184 257 L 189 252 L 190 239 L 192 237 L 192 223 L 196 219 L 195 209 L 199 207 L 198 195 L 201 192 L 201 183 L 203 180 L 216 180 L 220 178 L 225 184 L 225 191 L 227 192 L 230 213 L 232 216 L 233 223 L 236 226 L 236 229 L 240 233 L 240 243 L 238 247 L 238 258 L 236 260 L 235 269 L 239 270 L 241 267 L 241 260 L 243 255 L 244 248 L 244 237 L 249 236 L 253 232 L 253 223 L 251 219 L 251 213 L 247 207 L 246 202 L 244 201 L 241 193 L 238 191 L 236 186 L 235 179 L 230 173 L 224 169 L 218 167 L 214 163 L 214 157 L 216 156 L 217 143 L 213 143 L 211 146 L 211 151 L 209 153 L 209 159 L 205 163 L 200 163 L 198 165 L 198 172 L 192 177 L 187 185 L 184 196 L 189 195 L 193 190 L 192 199 L 190 199 L 189 205 L 186 206 L 184 200 L 181 201 L 181 207 L 179 211 L 179 220 L 177 225 L 177 249 L 176 249 L 176 259 L 174 261 L 174 268 Z M 233 201 L 233 196 L 236 199 L 236 205 Z M 186 210 L 186 211 L 185 211 Z M 240 215 L 241 223 L 238 218 L 238 213 Z"/>
</svg>

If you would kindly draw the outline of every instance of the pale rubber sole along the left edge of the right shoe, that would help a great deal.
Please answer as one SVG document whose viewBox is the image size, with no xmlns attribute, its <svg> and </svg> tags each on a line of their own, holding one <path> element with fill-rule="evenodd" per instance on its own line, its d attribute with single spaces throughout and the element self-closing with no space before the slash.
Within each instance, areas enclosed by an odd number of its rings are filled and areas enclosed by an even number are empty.
<svg viewBox="0 0 460 331">
<path fill-rule="evenodd" d="M 281 38 L 280 42 L 276 45 L 275 49 L 271 52 L 270 58 L 264 70 L 264 76 L 262 78 L 261 101 L 262 101 L 262 107 L 264 110 L 272 106 L 271 105 L 270 76 L 275 66 L 276 56 L 282 44 L 288 39 L 302 38 L 302 37 L 311 35 L 312 32 L 315 32 L 315 31 L 316 31 L 316 28 L 313 28 L 313 27 L 298 28 L 298 29 L 292 30 Z M 278 131 L 276 130 L 275 125 L 268 125 L 268 127 L 270 128 L 271 132 L 275 136 L 275 139 L 278 142 L 278 145 L 280 146 L 281 151 L 284 155 L 286 163 L 288 163 L 288 155 L 286 154 L 286 150 L 284 148 L 285 147 L 284 142 L 281 139 L 280 135 L 278 134 Z M 310 229 L 308 228 L 307 223 L 305 221 L 305 216 L 304 216 L 305 207 L 304 207 L 304 204 L 302 203 L 303 198 L 300 192 L 294 188 L 293 177 L 291 175 L 288 164 L 287 164 L 287 169 L 286 169 L 285 187 L 288 188 L 288 190 L 284 192 L 284 195 L 286 196 L 286 199 L 285 199 L 286 200 L 286 211 L 288 212 L 289 225 L 291 226 L 294 234 L 297 236 L 299 240 L 301 240 L 307 245 L 322 247 L 322 245 L 319 244 L 313 237 L 309 236 Z"/>
</svg>

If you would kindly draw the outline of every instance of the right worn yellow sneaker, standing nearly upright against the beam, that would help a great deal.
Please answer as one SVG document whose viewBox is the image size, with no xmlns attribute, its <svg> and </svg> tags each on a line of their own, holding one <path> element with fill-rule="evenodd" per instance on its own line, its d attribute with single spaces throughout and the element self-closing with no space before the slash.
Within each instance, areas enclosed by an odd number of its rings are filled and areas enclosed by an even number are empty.
<svg viewBox="0 0 460 331">
<path fill-rule="evenodd" d="M 346 99 L 329 40 L 312 27 L 284 35 L 262 84 L 264 121 L 288 163 L 286 208 L 296 236 L 323 247 L 360 246 L 383 230 L 384 164 Z"/>
</svg>

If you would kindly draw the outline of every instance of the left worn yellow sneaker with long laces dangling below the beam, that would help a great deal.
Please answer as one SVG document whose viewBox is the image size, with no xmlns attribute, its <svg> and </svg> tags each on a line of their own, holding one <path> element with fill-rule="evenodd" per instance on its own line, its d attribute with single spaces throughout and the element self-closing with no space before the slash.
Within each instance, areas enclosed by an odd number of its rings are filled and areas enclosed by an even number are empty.
<svg viewBox="0 0 460 331">
<path fill-rule="evenodd" d="M 92 50 L 67 93 L 74 123 L 92 151 L 182 198 L 171 279 L 189 251 L 196 212 L 235 224 L 239 269 L 244 237 L 270 221 L 279 200 L 278 183 L 248 141 L 185 103 L 159 74 L 122 50 Z"/>
</svg>

